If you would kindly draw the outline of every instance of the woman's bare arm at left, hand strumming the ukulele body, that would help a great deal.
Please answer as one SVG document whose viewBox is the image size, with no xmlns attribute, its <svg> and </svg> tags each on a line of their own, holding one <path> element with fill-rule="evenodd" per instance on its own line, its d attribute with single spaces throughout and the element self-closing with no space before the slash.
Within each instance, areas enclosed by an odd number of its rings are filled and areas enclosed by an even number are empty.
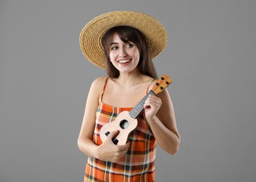
<svg viewBox="0 0 256 182">
<path fill-rule="evenodd" d="M 108 139 L 101 144 L 101 146 L 97 146 L 93 141 L 96 111 L 98 109 L 99 98 L 101 96 L 104 82 L 105 78 L 98 78 L 91 84 L 77 145 L 79 149 L 87 156 L 116 162 L 122 157 L 122 155 L 126 153 L 129 147 L 129 144 L 124 146 L 116 146 L 113 144 L 112 138 L 115 137 L 117 132 L 111 133 Z"/>
</svg>

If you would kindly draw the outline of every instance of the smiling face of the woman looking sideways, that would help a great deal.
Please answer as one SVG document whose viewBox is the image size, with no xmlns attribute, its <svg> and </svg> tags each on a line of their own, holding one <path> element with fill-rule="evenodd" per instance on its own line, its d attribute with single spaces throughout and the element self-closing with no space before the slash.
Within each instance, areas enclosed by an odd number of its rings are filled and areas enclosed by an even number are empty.
<svg viewBox="0 0 256 182">
<path fill-rule="evenodd" d="M 139 63 L 139 50 L 133 42 L 123 42 L 115 33 L 110 43 L 110 62 L 120 72 L 129 73 Z"/>
</svg>

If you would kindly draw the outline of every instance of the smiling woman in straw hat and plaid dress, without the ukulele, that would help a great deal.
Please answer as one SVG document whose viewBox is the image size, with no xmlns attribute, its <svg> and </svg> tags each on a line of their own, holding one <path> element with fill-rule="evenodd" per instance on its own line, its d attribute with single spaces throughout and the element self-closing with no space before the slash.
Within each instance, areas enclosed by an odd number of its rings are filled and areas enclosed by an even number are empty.
<svg viewBox="0 0 256 182">
<path fill-rule="evenodd" d="M 91 84 L 78 138 L 89 156 L 84 181 L 154 181 L 156 143 L 170 155 L 179 148 L 179 132 L 167 90 L 150 95 L 127 144 L 114 144 L 120 131 L 99 133 L 122 111 L 132 108 L 158 78 L 151 58 L 164 50 L 167 34 L 158 20 L 131 11 L 115 11 L 91 20 L 80 34 L 82 52 L 108 76 Z"/>
</svg>

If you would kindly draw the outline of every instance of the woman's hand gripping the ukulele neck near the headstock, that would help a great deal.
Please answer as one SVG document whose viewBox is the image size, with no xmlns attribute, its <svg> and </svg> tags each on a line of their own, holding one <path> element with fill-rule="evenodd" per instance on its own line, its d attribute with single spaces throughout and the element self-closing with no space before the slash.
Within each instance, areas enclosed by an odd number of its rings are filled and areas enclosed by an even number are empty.
<svg viewBox="0 0 256 182">
<path fill-rule="evenodd" d="M 150 95 L 144 104 L 146 120 L 155 120 L 155 114 L 158 112 L 158 109 L 160 109 L 161 105 L 162 101 L 159 97 Z"/>
</svg>

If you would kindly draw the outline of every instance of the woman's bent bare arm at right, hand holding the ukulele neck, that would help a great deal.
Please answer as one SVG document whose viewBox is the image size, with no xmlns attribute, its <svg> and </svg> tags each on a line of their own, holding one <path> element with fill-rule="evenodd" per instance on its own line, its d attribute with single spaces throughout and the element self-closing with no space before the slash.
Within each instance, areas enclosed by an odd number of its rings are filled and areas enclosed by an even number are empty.
<svg viewBox="0 0 256 182">
<path fill-rule="evenodd" d="M 151 95 L 145 102 L 145 117 L 158 145 L 170 155 L 179 150 L 180 136 L 174 116 L 174 107 L 169 92 L 164 90 Z"/>
</svg>

